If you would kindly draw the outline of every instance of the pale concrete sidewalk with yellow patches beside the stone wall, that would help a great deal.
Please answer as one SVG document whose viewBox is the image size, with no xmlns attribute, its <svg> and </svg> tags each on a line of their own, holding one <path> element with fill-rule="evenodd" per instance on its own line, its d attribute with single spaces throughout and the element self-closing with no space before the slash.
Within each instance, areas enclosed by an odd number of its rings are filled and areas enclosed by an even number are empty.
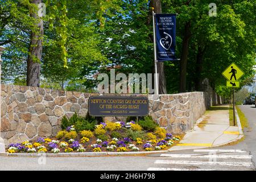
<svg viewBox="0 0 256 182">
<path fill-rule="evenodd" d="M 229 126 L 229 105 L 213 106 L 196 121 L 194 129 L 169 151 L 217 147 L 239 140 L 243 134 L 239 119 L 237 122 L 238 126 Z"/>
</svg>

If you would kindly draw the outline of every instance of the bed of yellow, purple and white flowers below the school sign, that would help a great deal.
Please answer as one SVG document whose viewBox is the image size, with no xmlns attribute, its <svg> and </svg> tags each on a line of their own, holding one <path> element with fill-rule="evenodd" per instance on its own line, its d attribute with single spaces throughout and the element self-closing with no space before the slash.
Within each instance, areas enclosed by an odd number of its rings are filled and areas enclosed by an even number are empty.
<svg viewBox="0 0 256 182">
<path fill-rule="evenodd" d="M 101 152 L 101 151 L 155 151 L 164 150 L 180 140 L 166 133 L 158 126 L 153 131 L 145 131 L 134 121 L 101 122 L 94 130 L 76 131 L 76 126 L 68 126 L 56 138 L 38 138 L 36 141 L 11 143 L 9 153 L 54 153 L 59 152 Z"/>
</svg>

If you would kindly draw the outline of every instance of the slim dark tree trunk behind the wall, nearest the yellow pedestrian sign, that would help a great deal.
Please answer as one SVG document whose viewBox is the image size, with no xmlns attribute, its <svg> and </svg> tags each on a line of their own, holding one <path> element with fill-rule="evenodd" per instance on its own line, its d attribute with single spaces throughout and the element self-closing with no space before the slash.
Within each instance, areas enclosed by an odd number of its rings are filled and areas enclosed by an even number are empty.
<svg viewBox="0 0 256 182">
<path fill-rule="evenodd" d="M 203 70 L 203 48 L 198 46 L 197 55 L 196 55 L 196 76 L 195 76 L 195 88 L 196 91 L 201 91 L 201 73 Z"/>
</svg>

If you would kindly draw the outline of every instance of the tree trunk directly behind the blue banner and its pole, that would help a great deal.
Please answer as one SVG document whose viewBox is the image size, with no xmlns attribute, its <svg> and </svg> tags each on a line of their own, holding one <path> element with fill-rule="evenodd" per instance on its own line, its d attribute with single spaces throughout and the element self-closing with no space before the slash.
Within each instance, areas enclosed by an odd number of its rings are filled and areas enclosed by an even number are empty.
<svg viewBox="0 0 256 182">
<path fill-rule="evenodd" d="M 162 4 L 161 4 L 161 0 L 151 0 L 150 1 L 150 7 L 154 7 L 154 12 L 155 13 L 162 13 Z M 158 74 L 159 74 L 159 94 L 167 94 L 166 91 L 166 77 L 164 75 L 164 63 L 163 62 L 159 62 L 157 63 L 157 67 L 158 67 Z"/>
</svg>

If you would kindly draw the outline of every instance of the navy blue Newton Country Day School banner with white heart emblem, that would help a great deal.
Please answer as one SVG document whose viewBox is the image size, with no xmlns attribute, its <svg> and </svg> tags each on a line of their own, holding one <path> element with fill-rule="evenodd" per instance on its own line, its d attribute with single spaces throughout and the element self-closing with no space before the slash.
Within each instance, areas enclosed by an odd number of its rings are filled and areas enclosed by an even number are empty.
<svg viewBox="0 0 256 182">
<path fill-rule="evenodd" d="M 155 14 L 156 60 L 175 60 L 176 14 Z"/>
</svg>

